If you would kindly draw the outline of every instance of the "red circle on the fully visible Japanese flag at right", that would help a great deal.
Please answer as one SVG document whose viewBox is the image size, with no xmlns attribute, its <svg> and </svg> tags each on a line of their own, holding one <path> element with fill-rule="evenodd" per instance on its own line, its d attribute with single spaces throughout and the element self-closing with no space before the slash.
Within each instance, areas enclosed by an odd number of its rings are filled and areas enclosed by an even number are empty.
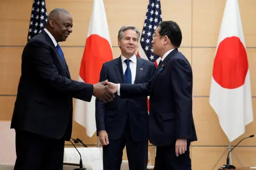
<svg viewBox="0 0 256 170">
<path fill-rule="evenodd" d="M 242 86 L 248 71 L 245 47 L 238 37 L 228 37 L 219 44 L 212 77 L 223 88 Z"/>
</svg>

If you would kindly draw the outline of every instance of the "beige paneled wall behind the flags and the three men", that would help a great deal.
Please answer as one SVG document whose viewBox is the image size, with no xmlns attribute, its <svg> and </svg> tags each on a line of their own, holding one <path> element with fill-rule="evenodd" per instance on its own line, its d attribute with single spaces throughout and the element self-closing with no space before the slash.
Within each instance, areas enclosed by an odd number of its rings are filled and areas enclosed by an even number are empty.
<svg viewBox="0 0 256 170">
<path fill-rule="evenodd" d="M 161 0 L 163 20 L 175 20 L 182 29 L 183 41 L 180 51 L 188 58 L 194 71 L 193 113 L 198 134 L 190 151 L 193 169 L 211 169 L 225 152 L 229 144 L 219 126 L 218 117 L 209 105 L 209 87 L 225 0 Z M 104 0 L 108 18 L 114 58 L 120 54 L 117 47 L 117 33 L 123 25 L 135 25 L 140 30 L 147 8 L 147 0 Z M 80 60 L 86 41 L 93 0 L 46 0 L 48 13 L 56 7 L 65 8 L 73 15 L 73 33 L 61 43 L 71 76 L 77 80 Z M 256 31 L 255 0 L 240 0 L 245 43 L 250 66 L 252 101 L 256 117 Z M 20 76 L 20 58 L 26 44 L 32 0 L 1 0 L 0 4 L 0 119 L 10 120 Z M 255 121 L 246 127 L 244 136 L 256 130 Z M 97 144 L 97 138 L 86 136 L 86 131 L 74 123 L 74 138 L 79 137 L 87 144 Z M 232 142 L 236 144 L 239 139 Z M 69 144 L 67 142 L 67 144 Z M 245 147 L 235 150 L 244 166 L 256 165 L 256 137 L 241 143 Z M 67 145 L 68 147 L 68 145 Z M 155 150 L 150 147 L 154 156 Z M 126 159 L 124 151 L 124 159 Z M 227 151 L 217 167 L 225 163 Z M 153 159 L 154 162 L 154 159 Z M 240 166 L 232 155 L 232 163 Z M 203 168 L 205 167 L 205 168 Z"/>
</svg>

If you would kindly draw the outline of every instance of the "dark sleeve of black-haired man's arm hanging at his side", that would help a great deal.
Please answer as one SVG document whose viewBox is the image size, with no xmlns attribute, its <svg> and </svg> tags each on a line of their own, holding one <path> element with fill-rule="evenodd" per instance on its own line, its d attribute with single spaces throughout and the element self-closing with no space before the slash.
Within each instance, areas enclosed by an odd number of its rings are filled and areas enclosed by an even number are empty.
<svg viewBox="0 0 256 170">
<path fill-rule="evenodd" d="M 170 78 L 174 88 L 176 137 L 177 139 L 189 139 L 193 86 L 191 67 L 184 60 L 175 59 L 172 63 Z"/>
</svg>

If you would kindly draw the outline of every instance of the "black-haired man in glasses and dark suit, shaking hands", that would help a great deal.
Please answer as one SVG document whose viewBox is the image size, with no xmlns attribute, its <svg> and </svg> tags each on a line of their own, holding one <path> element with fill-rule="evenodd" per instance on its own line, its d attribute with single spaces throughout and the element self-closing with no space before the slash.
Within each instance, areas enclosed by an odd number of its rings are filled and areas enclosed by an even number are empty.
<svg viewBox="0 0 256 170">
<path fill-rule="evenodd" d="M 190 142 L 197 140 L 192 114 L 192 69 L 178 51 L 182 34 L 174 21 L 163 21 L 153 35 L 153 53 L 161 60 L 148 83 L 114 84 L 121 98 L 150 95 L 149 134 L 157 146 L 156 170 L 191 169 Z"/>
</svg>

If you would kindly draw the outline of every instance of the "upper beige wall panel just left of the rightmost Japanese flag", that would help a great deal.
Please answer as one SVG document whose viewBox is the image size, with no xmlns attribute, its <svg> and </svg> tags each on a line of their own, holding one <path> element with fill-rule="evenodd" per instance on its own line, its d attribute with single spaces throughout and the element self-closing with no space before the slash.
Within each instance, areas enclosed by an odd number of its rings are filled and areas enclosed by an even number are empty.
<svg viewBox="0 0 256 170">
<path fill-rule="evenodd" d="M 193 0 L 193 46 L 217 45 L 225 2 L 223 0 Z"/>
</svg>

